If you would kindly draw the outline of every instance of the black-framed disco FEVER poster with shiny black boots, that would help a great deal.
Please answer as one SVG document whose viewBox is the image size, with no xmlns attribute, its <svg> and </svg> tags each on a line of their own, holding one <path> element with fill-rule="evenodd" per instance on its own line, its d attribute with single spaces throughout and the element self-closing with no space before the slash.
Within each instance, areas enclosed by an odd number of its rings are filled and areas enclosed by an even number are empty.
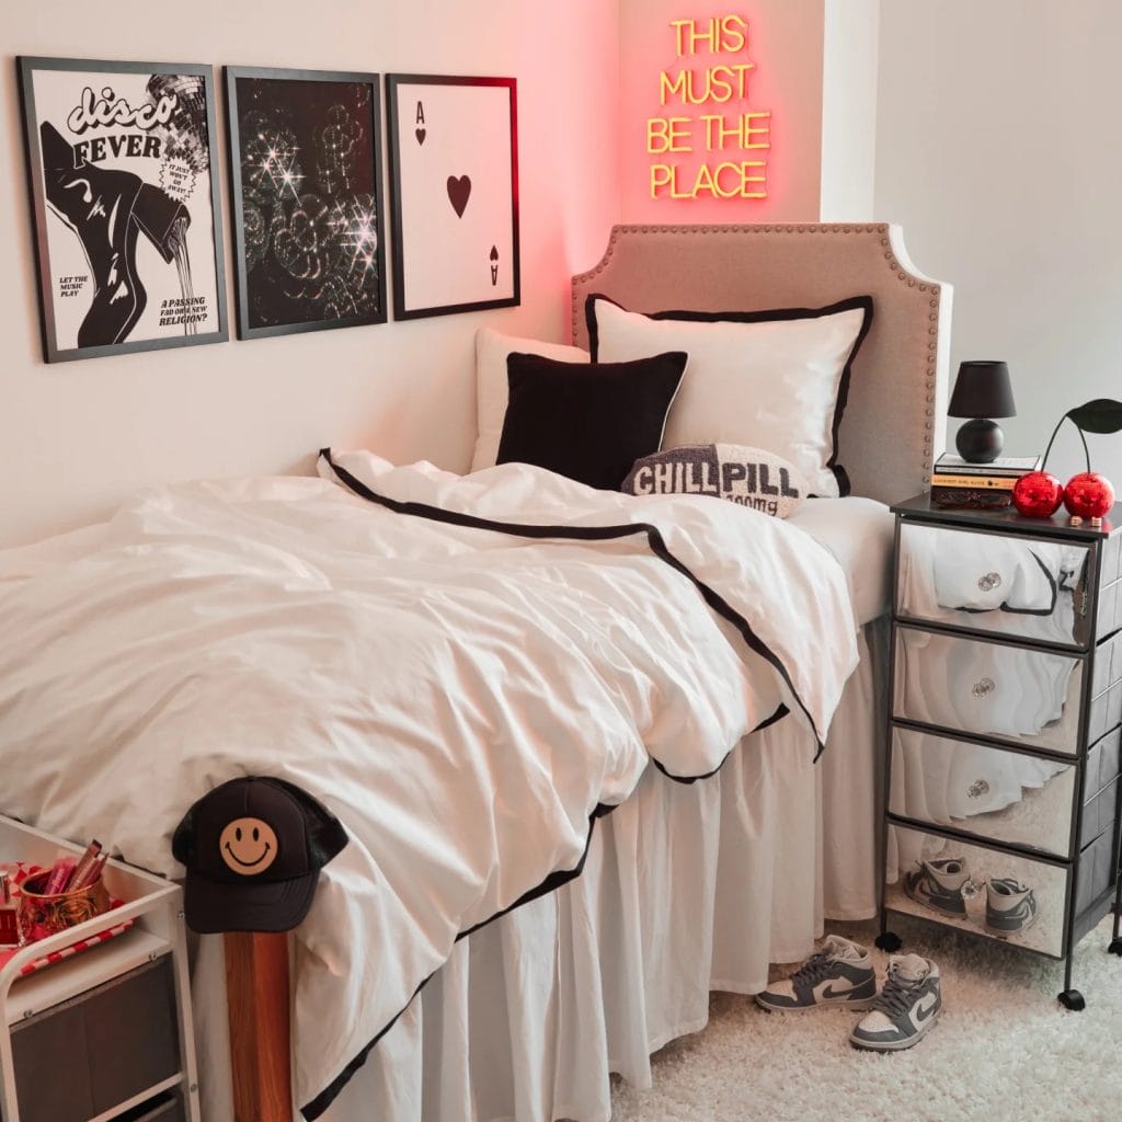
<svg viewBox="0 0 1122 1122">
<path fill-rule="evenodd" d="M 18 67 L 46 360 L 224 340 L 211 67 Z"/>
</svg>

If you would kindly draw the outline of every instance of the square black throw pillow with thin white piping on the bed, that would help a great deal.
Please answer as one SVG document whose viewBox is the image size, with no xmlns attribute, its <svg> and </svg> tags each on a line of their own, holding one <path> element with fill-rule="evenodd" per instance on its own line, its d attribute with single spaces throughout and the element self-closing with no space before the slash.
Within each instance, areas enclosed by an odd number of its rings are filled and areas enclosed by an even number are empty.
<svg viewBox="0 0 1122 1122">
<path fill-rule="evenodd" d="M 659 450 L 687 359 L 684 351 L 633 362 L 559 362 L 511 353 L 496 462 L 532 463 L 589 487 L 618 490 L 632 465 Z"/>
</svg>

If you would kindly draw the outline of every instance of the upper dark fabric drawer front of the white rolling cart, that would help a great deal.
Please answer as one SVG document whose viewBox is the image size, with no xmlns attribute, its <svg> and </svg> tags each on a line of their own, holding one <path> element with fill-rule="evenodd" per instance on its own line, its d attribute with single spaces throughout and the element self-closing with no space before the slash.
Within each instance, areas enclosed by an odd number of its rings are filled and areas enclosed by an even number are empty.
<svg viewBox="0 0 1122 1122">
<path fill-rule="evenodd" d="M 21 1122 L 84 1122 L 174 1076 L 175 1010 L 172 959 L 164 955 L 13 1027 Z M 49 1078 L 66 1056 L 89 1063 L 68 1064 L 65 1079 Z"/>
</svg>

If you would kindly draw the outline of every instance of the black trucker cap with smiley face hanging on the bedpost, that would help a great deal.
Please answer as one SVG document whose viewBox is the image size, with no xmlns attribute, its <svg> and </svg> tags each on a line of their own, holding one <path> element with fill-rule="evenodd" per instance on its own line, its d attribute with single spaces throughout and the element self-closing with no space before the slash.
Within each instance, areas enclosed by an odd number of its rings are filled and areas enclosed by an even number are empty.
<svg viewBox="0 0 1122 1122">
<path fill-rule="evenodd" d="M 184 815 L 172 853 L 187 868 L 193 931 L 287 931 L 312 907 L 320 870 L 347 845 L 339 819 L 283 779 L 242 775 Z"/>
</svg>

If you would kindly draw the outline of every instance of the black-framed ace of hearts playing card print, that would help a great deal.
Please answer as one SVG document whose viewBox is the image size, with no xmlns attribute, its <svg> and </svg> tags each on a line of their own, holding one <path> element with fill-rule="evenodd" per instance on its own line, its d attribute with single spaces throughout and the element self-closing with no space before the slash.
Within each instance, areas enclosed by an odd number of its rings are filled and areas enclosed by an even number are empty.
<svg viewBox="0 0 1122 1122">
<path fill-rule="evenodd" d="M 394 316 L 519 303 L 513 77 L 386 79 Z"/>
</svg>

